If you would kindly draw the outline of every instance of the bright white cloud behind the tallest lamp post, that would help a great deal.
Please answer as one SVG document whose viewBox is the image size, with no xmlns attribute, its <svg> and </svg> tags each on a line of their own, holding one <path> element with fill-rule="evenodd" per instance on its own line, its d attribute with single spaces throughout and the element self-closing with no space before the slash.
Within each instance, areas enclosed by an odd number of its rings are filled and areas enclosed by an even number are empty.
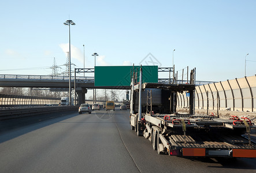
<svg viewBox="0 0 256 173">
<path fill-rule="evenodd" d="M 62 49 L 63 52 L 69 52 L 69 44 L 68 43 L 62 43 L 59 45 Z M 77 59 L 80 62 L 84 62 L 84 58 L 83 58 L 83 52 L 81 52 L 81 50 L 75 46 L 73 46 L 71 44 L 71 59 Z"/>
</svg>

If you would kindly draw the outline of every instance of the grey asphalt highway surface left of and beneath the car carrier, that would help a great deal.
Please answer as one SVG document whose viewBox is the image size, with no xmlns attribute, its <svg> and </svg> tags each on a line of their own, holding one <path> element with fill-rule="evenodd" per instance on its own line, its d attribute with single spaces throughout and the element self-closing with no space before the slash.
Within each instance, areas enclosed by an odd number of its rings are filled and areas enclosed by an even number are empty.
<svg viewBox="0 0 256 173">
<path fill-rule="evenodd" d="M 0 121 L 0 172 L 256 172 L 256 159 L 158 155 L 129 111 L 37 117 Z"/>
</svg>

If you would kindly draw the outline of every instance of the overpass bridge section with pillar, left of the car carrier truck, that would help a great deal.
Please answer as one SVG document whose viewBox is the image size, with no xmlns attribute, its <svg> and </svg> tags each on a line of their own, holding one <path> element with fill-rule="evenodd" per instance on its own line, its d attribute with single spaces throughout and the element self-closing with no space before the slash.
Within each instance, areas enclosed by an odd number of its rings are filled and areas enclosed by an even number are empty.
<svg viewBox="0 0 256 173">
<path fill-rule="evenodd" d="M 0 87 L 50 88 L 52 91 L 64 91 L 61 89 L 69 88 L 69 77 L 0 74 Z M 94 86 L 94 77 L 81 76 L 76 76 L 76 80 L 74 76 L 71 77 L 71 88 L 75 89 L 79 104 L 84 103 L 88 88 L 131 89 L 130 86 Z"/>
</svg>

